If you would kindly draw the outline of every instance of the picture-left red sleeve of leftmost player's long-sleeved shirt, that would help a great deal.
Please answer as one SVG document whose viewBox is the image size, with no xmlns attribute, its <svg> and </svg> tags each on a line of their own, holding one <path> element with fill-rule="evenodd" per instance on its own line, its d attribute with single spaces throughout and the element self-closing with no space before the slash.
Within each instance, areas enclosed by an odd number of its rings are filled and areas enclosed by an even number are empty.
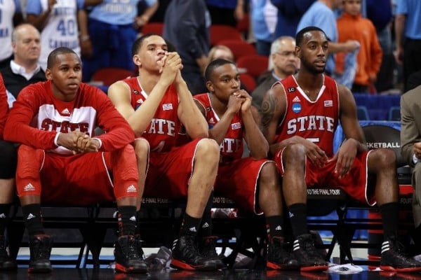
<svg viewBox="0 0 421 280">
<path fill-rule="evenodd" d="M 50 83 L 37 83 L 25 87 L 13 103 L 6 127 L 4 127 L 4 139 L 41 150 L 57 148 L 54 144 L 55 131 L 39 130 L 32 127 L 34 116 L 39 111 L 41 98 L 45 96 L 46 86 Z"/>
</svg>

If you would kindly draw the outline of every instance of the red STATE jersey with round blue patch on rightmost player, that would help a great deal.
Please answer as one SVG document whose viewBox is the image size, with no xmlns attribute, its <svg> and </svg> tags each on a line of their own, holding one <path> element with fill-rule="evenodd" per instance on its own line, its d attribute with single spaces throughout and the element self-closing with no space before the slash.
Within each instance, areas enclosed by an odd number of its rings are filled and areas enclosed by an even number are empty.
<svg viewBox="0 0 421 280">
<path fill-rule="evenodd" d="M 275 141 L 303 137 L 314 142 L 330 158 L 339 120 L 339 94 L 335 80 L 323 77 L 323 85 L 315 101 L 307 97 L 294 76 L 279 82 L 286 94 L 286 113 L 276 129 Z"/>
</svg>

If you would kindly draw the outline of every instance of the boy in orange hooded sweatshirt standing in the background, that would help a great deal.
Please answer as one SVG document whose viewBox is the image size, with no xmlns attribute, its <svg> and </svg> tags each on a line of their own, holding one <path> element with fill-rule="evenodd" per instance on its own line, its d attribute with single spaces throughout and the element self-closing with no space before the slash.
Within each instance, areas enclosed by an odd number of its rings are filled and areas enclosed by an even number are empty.
<svg viewBox="0 0 421 280">
<path fill-rule="evenodd" d="M 377 40 L 377 32 L 373 23 L 361 16 L 361 0 L 344 0 L 342 7 L 343 13 L 337 20 L 338 42 L 345 43 L 355 40 L 360 44 L 351 90 L 352 92 L 370 92 L 370 88 L 377 80 L 377 73 L 382 63 L 382 48 Z M 335 72 L 344 72 L 347 67 L 346 55 L 345 52 L 336 55 Z"/>
</svg>

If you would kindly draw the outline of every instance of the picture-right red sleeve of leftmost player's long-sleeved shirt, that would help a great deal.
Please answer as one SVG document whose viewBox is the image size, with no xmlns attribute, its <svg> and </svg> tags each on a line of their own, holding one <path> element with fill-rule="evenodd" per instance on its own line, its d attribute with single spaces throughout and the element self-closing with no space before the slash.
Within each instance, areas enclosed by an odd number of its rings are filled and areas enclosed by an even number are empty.
<svg viewBox="0 0 421 280">
<path fill-rule="evenodd" d="M 117 111 L 106 94 L 93 87 L 96 93 L 97 125 L 105 131 L 96 137 L 101 139 L 100 151 L 114 151 L 131 144 L 135 140 L 135 133 L 119 111 Z M 93 94 L 94 95 L 94 94 Z"/>
</svg>

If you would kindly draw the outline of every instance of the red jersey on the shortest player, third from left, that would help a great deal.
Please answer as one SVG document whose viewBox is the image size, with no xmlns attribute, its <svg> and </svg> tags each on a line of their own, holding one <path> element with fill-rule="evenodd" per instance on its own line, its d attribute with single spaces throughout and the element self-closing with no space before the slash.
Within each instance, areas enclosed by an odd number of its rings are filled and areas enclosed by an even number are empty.
<svg viewBox="0 0 421 280">
<path fill-rule="evenodd" d="M 208 93 L 196 94 L 194 99 L 197 99 L 206 111 L 206 120 L 208 121 L 209 129 L 211 129 L 220 117 L 213 110 L 210 104 L 210 97 Z M 225 164 L 241 158 L 243 155 L 243 120 L 241 114 L 236 113 L 231 120 L 231 125 L 225 134 L 224 141 L 220 144 L 220 163 Z"/>
</svg>

